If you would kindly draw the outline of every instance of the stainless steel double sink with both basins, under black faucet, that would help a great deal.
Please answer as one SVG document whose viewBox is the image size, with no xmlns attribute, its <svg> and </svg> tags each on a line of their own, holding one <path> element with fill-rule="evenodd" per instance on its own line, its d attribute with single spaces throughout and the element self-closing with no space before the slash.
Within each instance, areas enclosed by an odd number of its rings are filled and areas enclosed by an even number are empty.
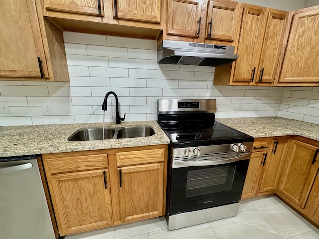
<svg viewBox="0 0 319 239">
<path fill-rule="evenodd" d="M 92 141 L 102 140 L 102 128 L 89 128 L 76 131 L 68 138 L 69 141 Z M 138 138 L 154 135 L 153 128 L 147 126 L 124 127 L 124 128 L 105 128 L 104 139 L 117 138 Z"/>
</svg>

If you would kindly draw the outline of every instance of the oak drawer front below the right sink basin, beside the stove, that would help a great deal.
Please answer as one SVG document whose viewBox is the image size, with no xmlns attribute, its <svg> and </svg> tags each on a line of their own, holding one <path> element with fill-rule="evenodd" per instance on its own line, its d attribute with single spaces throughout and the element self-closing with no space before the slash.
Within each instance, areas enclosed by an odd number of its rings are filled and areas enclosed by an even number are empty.
<svg viewBox="0 0 319 239">
<path fill-rule="evenodd" d="M 116 153 L 117 166 L 163 162 L 164 159 L 164 148 Z"/>
</svg>

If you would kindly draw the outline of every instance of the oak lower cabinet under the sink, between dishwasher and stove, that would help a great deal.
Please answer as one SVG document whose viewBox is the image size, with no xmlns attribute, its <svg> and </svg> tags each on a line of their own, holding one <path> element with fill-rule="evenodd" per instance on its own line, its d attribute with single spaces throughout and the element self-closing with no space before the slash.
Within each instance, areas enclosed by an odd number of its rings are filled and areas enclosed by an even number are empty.
<svg viewBox="0 0 319 239">
<path fill-rule="evenodd" d="M 59 234 L 164 215 L 167 147 L 42 155 Z"/>
</svg>

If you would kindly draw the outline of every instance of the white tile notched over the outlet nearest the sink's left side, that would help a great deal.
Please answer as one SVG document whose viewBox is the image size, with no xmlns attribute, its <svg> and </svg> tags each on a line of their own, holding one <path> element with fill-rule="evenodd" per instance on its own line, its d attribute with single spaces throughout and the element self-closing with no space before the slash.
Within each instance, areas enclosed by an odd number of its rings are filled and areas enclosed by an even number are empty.
<svg viewBox="0 0 319 239">
<path fill-rule="evenodd" d="M 52 106 L 70 106 L 72 105 L 70 96 L 28 96 L 26 97 L 29 106 L 41 106 L 43 103 L 51 104 Z"/>
</svg>

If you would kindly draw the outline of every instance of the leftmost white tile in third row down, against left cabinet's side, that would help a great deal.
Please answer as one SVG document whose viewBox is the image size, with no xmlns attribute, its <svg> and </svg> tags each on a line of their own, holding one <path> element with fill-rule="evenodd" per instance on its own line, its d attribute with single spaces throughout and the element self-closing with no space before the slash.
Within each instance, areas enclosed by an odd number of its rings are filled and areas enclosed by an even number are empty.
<svg viewBox="0 0 319 239">
<path fill-rule="evenodd" d="M 82 55 L 66 55 L 68 65 L 74 66 L 104 66 L 108 67 L 108 57 L 105 56 L 82 56 Z"/>
</svg>

